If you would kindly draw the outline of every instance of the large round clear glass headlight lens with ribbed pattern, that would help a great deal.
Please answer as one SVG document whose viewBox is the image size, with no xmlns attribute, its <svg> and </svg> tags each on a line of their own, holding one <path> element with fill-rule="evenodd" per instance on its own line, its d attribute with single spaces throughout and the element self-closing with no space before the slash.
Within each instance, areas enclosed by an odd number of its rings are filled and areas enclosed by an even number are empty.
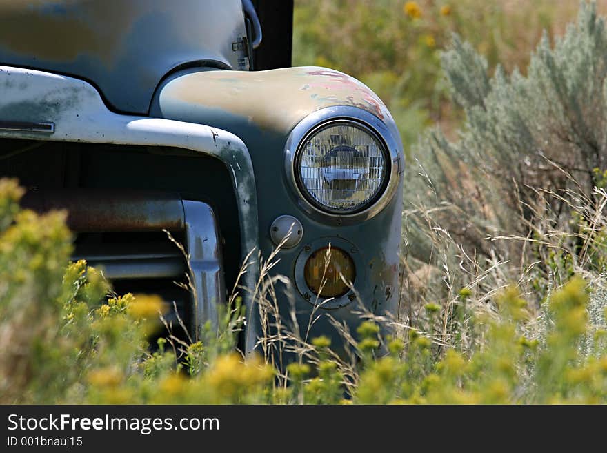
<svg viewBox="0 0 607 453">
<path fill-rule="evenodd" d="M 389 160 L 383 143 L 353 121 L 332 121 L 299 145 L 295 173 L 301 192 L 317 207 L 348 214 L 383 192 Z"/>
</svg>

